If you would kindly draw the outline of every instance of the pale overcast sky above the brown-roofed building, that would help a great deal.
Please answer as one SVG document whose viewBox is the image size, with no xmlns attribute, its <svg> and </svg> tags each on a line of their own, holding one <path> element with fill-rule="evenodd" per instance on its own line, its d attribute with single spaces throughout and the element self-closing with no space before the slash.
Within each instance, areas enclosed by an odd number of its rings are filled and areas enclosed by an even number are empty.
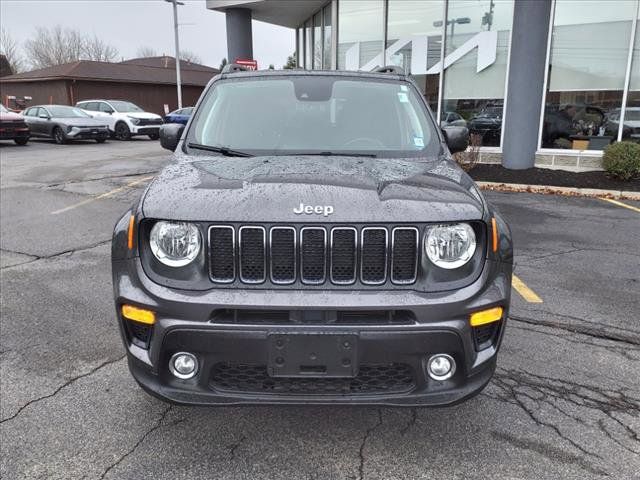
<svg viewBox="0 0 640 480">
<path fill-rule="evenodd" d="M 180 48 L 217 67 L 227 56 L 224 13 L 207 10 L 205 0 L 182 0 L 178 7 Z M 75 28 L 96 34 L 134 58 L 142 46 L 174 55 L 172 6 L 163 0 L 0 0 L 0 26 L 23 43 L 38 26 Z M 253 22 L 253 56 L 260 68 L 282 67 L 295 50 L 295 30 Z"/>
</svg>

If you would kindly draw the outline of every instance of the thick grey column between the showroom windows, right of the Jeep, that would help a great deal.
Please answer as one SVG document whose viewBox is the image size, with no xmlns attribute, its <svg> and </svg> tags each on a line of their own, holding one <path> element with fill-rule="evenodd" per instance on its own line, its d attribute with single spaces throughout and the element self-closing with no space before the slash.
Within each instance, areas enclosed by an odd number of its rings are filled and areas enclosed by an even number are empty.
<svg viewBox="0 0 640 480">
<path fill-rule="evenodd" d="M 502 128 L 502 164 L 533 167 L 544 94 L 551 0 L 514 2 L 507 111 Z"/>
</svg>

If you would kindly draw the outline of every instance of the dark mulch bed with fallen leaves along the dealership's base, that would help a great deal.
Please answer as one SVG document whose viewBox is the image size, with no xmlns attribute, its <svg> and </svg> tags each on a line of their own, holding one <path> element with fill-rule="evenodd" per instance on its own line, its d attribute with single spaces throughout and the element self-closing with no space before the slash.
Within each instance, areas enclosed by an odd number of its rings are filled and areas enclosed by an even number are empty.
<svg viewBox="0 0 640 480">
<path fill-rule="evenodd" d="M 640 178 L 628 182 L 607 177 L 605 172 L 568 172 L 548 168 L 508 170 L 501 165 L 478 164 L 468 172 L 474 180 L 554 187 L 601 188 L 640 192 Z"/>
</svg>

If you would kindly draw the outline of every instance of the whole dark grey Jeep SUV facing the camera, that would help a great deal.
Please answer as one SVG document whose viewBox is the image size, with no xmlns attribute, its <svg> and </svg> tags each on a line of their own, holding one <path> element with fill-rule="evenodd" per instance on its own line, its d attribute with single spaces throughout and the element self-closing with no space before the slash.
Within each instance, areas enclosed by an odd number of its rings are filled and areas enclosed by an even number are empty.
<svg viewBox="0 0 640 480">
<path fill-rule="evenodd" d="M 130 370 L 183 404 L 444 405 L 490 380 L 509 228 L 414 83 L 228 66 L 113 236 Z M 447 147 L 448 145 L 448 147 Z"/>
</svg>

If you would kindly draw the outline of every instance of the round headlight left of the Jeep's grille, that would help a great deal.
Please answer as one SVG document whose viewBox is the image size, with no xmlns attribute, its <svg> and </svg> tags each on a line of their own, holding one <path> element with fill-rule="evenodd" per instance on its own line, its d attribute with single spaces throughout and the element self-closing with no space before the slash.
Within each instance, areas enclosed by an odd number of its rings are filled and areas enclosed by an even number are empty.
<svg viewBox="0 0 640 480">
<path fill-rule="evenodd" d="M 158 222 L 149 239 L 153 255 L 170 267 L 183 267 L 200 253 L 200 232 L 192 223 Z"/>
</svg>

